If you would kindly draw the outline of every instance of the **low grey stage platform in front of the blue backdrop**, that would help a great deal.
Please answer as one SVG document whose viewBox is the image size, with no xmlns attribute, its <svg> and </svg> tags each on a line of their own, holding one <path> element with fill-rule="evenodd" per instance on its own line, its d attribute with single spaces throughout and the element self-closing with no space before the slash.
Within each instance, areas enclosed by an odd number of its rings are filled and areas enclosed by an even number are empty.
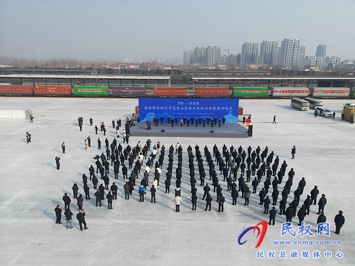
<svg viewBox="0 0 355 266">
<path fill-rule="evenodd" d="M 195 125 L 180 126 L 180 123 L 174 125 L 174 127 L 168 126 L 167 123 L 160 125 L 159 127 L 151 125 L 151 130 L 147 130 L 146 123 L 136 123 L 134 127 L 130 129 L 130 136 L 143 136 L 143 137 L 200 137 L 200 138 L 247 138 L 247 128 L 239 124 L 225 124 L 220 128 L 217 126 L 206 127 Z M 165 132 L 161 132 L 164 129 Z M 210 133 L 213 130 L 214 133 Z"/>
</svg>

